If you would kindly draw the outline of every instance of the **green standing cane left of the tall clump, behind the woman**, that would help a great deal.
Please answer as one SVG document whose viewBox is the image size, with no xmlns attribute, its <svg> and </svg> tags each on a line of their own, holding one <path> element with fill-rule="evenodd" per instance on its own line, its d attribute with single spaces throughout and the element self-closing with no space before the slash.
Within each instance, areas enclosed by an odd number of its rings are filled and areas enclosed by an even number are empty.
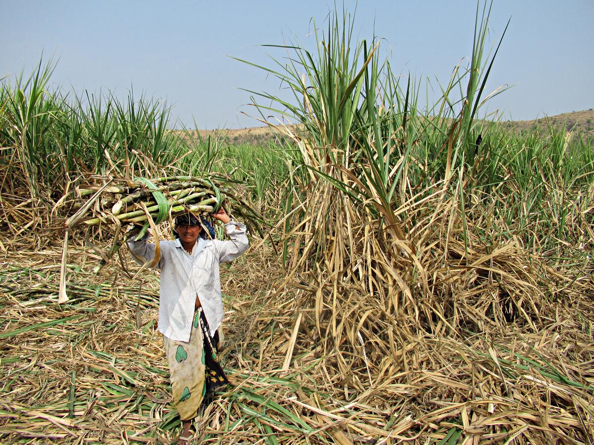
<svg viewBox="0 0 594 445">
<path fill-rule="evenodd" d="M 287 177 L 290 148 L 230 145 L 225 138 L 195 138 L 173 131 L 169 107 L 130 91 L 67 97 L 52 87 L 53 63 L 29 76 L 4 80 L 0 90 L 2 191 L 40 199 L 42 212 L 77 185 L 80 173 L 125 171 L 136 176 L 212 173 L 247 186 L 263 209 L 278 178 Z M 52 89 L 53 88 L 53 89 Z M 47 206 L 45 209 L 44 207 Z"/>
</svg>

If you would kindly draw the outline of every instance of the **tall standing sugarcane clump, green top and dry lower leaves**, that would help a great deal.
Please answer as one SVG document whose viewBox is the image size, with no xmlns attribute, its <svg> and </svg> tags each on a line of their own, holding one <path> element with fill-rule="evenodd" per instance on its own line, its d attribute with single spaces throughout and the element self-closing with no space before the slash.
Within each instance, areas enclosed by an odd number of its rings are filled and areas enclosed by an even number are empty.
<svg viewBox="0 0 594 445">
<path fill-rule="evenodd" d="M 501 158 L 475 138 L 480 131 L 489 140 L 489 124 L 476 117 L 497 54 L 484 62 L 490 7 L 477 7 L 469 65 L 454 67 L 441 97 L 426 109 L 419 108 L 421 85 L 380 58 L 379 39 L 357 42 L 345 11 L 331 14 L 323 31 L 316 27 L 316 54 L 290 43 L 276 46 L 286 50 L 286 61 L 257 65 L 293 94 L 287 101 L 254 93 L 273 103 L 260 106 L 262 115 L 300 124 L 270 122 L 293 139 L 302 158 L 295 170 L 304 173 L 287 199 L 301 205 L 286 208 L 293 221 L 286 224 L 286 282 L 297 275 L 315 282 L 316 328 L 328 348 L 342 335 L 358 348 L 338 320 L 372 301 L 384 313 L 416 320 L 415 329 L 437 329 L 436 317 L 447 319 L 445 307 L 454 303 L 440 309 L 441 298 L 450 300 L 447 280 L 435 281 L 435 262 L 471 263 L 479 220 L 470 218 L 483 212 L 474 205 L 489 201 L 492 181 L 505 175 Z M 362 296 L 344 297 L 352 288 Z M 411 304 L 415 299 L 428 303 Z M 374 342 L 398 347 L 393 338 L 374 335 Z M 357 360 L 345 356 L 343 370 L 346 363 L 361 365 Z"/>
</svg>

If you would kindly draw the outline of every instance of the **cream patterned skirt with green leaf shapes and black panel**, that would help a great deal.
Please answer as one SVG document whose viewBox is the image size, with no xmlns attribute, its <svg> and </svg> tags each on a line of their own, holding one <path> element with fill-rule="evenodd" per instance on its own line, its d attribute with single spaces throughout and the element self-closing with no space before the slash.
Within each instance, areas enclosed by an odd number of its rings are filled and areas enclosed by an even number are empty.
<svg viewBox="0 0 594 445">
<path fill-rule="evenodd" d="M 196 417 L 203 403 L 210 403 L 217 387 L 229 384 L 219 363 L 219 332 L 210 336 L 202 308 L 194 314 L 189 341 L 163 336 L 169 361 L 173 403 L 182 420 Z"/>
</svg>

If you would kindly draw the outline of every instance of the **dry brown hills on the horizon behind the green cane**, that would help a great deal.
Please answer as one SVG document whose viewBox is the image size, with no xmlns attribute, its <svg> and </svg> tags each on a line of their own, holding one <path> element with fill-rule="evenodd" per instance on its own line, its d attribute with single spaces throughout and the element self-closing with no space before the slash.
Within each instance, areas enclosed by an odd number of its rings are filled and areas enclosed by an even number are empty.
<svg viewBox="0 0 594 445">
<path fill-rule="evenodd" d="M 515 129 L 516 131 L 527 131 L 536 128 L 547 128 L 553 126 L 561 131 L 579 132 L 584 138 L 594 139 L 594 111 L 592 109 L 563 113 L 555 116 L 545 116 L 534 120 L 508 120 L 502 121 L 504 128 Z M 220 130 L 199 130 L 190 131 L 194 137 L 197 133 L 201 138 L 207 138 L 208 135 L 214 138 L 225 138 L 229 144 L 266 144 L 266 142 L 282 142 L 282 136 L 275 136 L 273 131 L 266 126 L 240 128 L 240 129 L 220 129 Z"/>
</svg>

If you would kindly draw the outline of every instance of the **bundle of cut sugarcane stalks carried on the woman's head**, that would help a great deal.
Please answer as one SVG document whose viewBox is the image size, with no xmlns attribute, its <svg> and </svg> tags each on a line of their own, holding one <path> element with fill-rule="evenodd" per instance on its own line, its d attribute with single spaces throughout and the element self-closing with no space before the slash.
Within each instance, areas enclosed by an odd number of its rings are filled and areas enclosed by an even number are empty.
<svg viewBox="0 0 594 445">
<path fill-rule="evenodd" d="M 100 178 L 102 185 L 78 187 L 78 210 L 64 221 L 66 229 L 62 251 L 62 274 L 59 303 L 68 301 L 66 295 L 66 262 L 68 231 L 78 226 L 112 227 L 114 243 L 108 252 L 93 247 L 101 256 L 95 272 L 105 265 L 119 248 L 132 237 L 140 239 L 146 231 L 178 215 L 191 212 L 194 215 L 208 215 L 225 205 L 242 220 L 251 223 L 262 235 L 260 225 L 263 217 L 252 208 L 232 187 L 223 186 L 222 181 L 211 177 L 164 176 L 154 179 L 135 178 L 116 180 Z M 225 181 L 232 183 L 231 181 Z M 123 231 L 123 225 L 134 224 L 132 230 Z M 156 240 L 157 243 L 159 242 Z"/>
</svg>

